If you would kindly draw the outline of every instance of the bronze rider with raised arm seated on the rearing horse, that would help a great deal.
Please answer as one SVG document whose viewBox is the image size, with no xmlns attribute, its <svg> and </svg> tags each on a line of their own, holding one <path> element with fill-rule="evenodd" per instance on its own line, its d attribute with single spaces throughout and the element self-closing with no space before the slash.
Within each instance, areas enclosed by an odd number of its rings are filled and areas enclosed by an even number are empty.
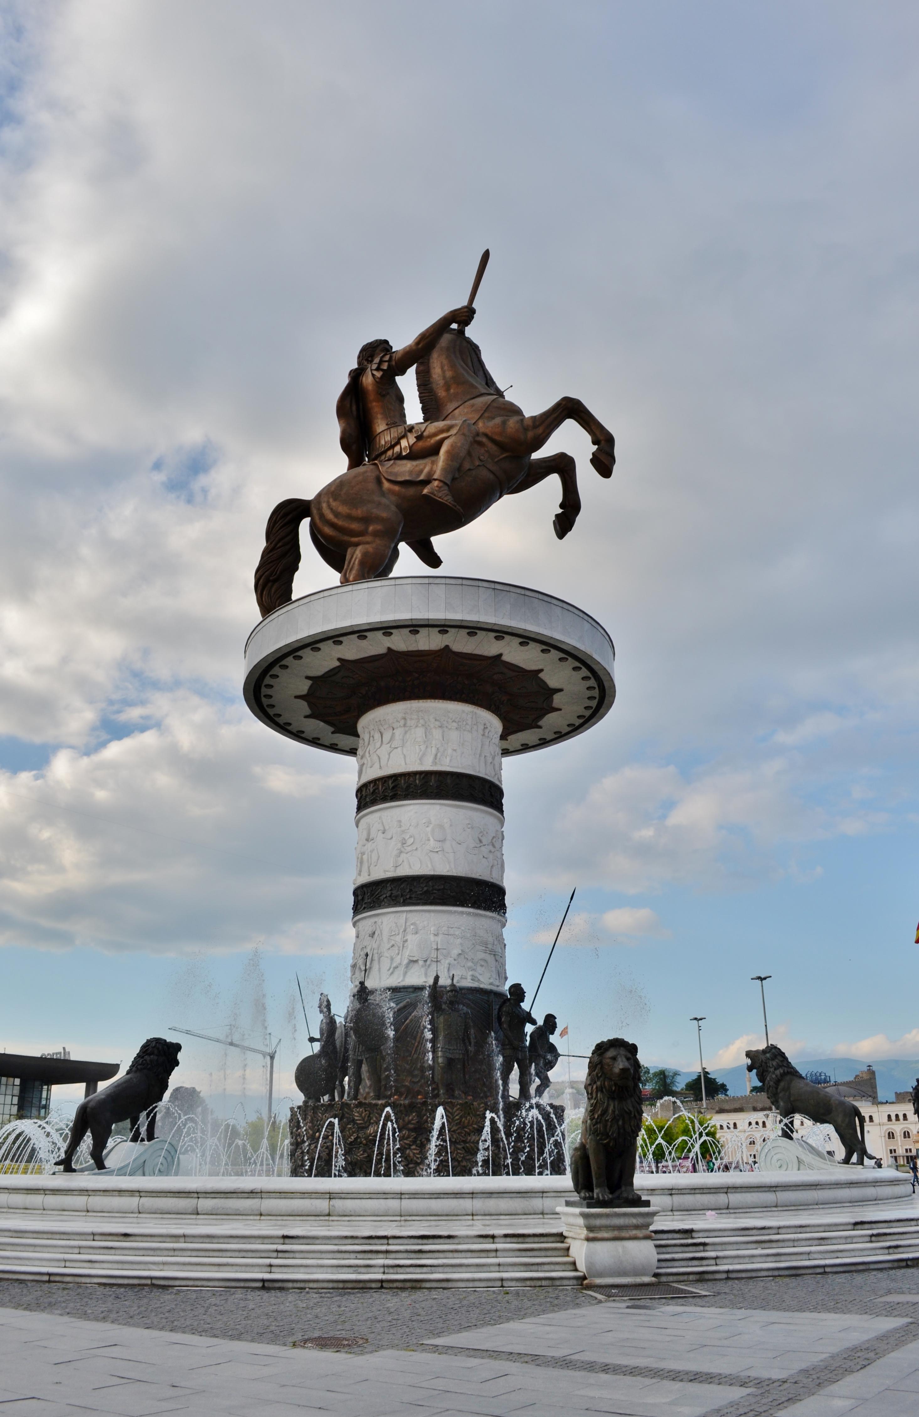
<svg viewBox="0 0 919 1417">
<path fill-rule="evenodd" d="M 348 374 L 336 405 L 348 468 L 375 462 L 388 482 L 426 482 L 425 496 L 436 497 L 459 517 L 463 513 L 453 500 L 450 483 L 476 429 L 467 418 L 406 424 L 396 376 L 406 374 L 425 359 L 450 324 L 464 327 L 474 315 L 472 305 L 447 310 L 401 350 L 394 350 L 389 340 L 368 340 L 358 350 L 357 367 Z"/>
</svg>

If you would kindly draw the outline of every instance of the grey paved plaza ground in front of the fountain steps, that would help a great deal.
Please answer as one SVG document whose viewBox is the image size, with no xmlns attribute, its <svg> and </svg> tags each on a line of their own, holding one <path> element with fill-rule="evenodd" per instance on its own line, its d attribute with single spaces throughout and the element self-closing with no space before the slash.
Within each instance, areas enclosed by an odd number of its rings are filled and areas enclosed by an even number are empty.
<svg viewBox="0 0 919 1417">
<path fill-rule="evenodd" d="M 292 1346 L 314 1338 L 350 1348 Z M 736 1281 L 643 1299 L 4 1282 L 0 1410 L 919 1414 L 919 1274 Z"/>
</svg>

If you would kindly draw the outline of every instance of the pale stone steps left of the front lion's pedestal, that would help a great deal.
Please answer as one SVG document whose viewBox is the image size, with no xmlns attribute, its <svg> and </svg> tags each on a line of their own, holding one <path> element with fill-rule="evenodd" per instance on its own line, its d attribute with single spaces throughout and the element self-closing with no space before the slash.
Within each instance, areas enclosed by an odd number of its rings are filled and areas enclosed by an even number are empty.
<svg viewBox="0 0 919 1417">
<path fill-rule="evenodd" d="M 3 1226 L 0 1278 L 221 1288 L 578 1287 L 558 1233 L 195 1234 Z"/>
</svg>

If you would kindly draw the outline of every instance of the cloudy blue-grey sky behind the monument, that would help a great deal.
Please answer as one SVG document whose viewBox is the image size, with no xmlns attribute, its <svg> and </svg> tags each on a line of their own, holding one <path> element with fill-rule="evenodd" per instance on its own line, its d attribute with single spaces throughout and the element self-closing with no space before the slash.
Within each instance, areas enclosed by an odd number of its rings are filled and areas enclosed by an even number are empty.
<svg viewBox="0 0 919 1417">
<path fill-rule="evenodd" d="M 919 1058 L 919 13 L 0 6 L 0 1047 L 344 1012 L 354 764 L 246 711 L 252 571 L 357 349 L 472 334 L 565 425 L 443 574 L 564 597 L 613 710 L 506 764 L 508 975 L 572 1053 Z M 409 417 L 418 402 L 405 380 Z M 419 572 L 406 553 L 402 574 Z M 295 595 L 330 584 L 304 547 Z M 263 1094 L 185 1039 L 174 1081 Z M 576 1060 L 573 1067 L 576 1068 Z"/>
</svg>

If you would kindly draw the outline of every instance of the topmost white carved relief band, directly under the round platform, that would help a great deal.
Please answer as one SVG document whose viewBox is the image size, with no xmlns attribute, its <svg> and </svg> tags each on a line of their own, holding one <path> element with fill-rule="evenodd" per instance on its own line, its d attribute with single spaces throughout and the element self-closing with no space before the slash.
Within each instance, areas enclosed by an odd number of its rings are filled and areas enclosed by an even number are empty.
<svg viewBox="0 0 919 1417">
<path fill-rule="evenodd" d="M 501 781 L 501 721 L 484 708 L 442 700 L 385 704 L 358 724 L 358 782 L 416 768 Z"/>
</svg>

